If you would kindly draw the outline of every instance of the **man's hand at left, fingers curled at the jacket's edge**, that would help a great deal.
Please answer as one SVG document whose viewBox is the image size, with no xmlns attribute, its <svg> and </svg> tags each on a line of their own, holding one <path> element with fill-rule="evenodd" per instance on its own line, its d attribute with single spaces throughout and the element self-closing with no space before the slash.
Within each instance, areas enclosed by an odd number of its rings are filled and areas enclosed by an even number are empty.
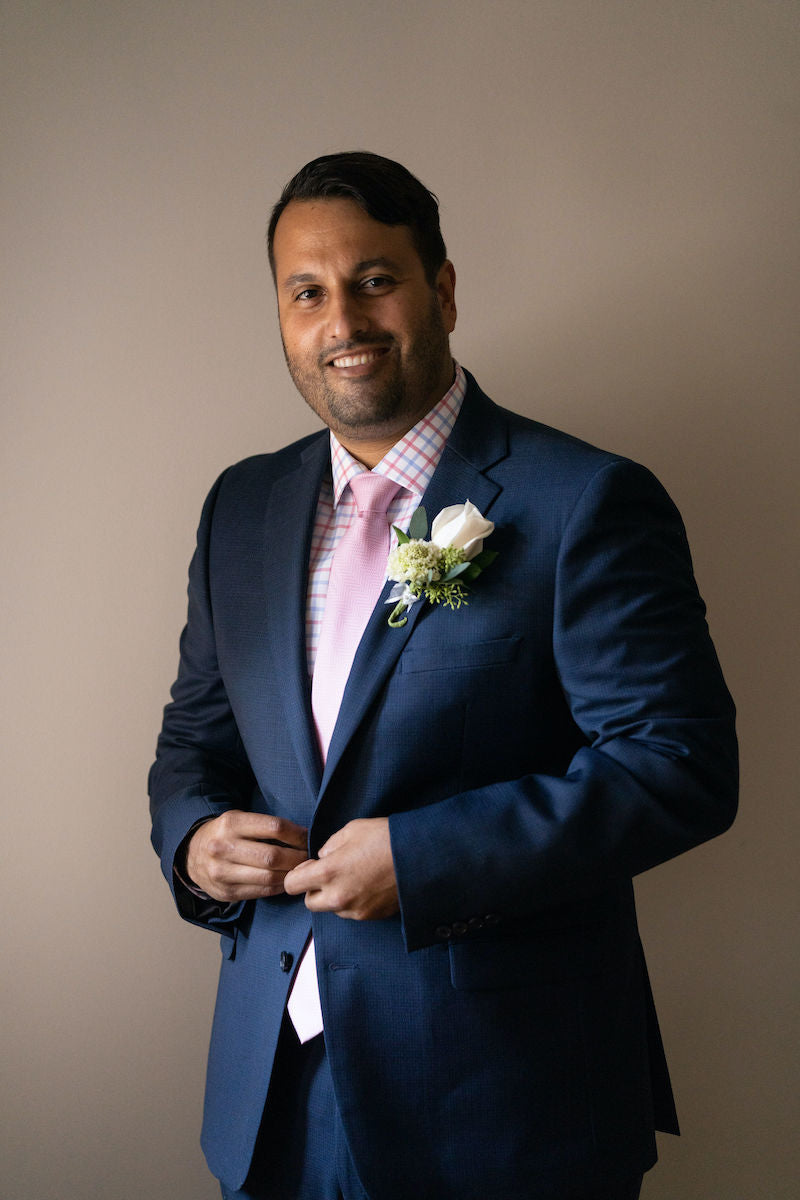
<svg viewBox="0 0 800 1200">
<path fill-rule="evenodd" d="M 275 896 L 283 892 L 287 871 L 308 858 L 306 838 L 294 821 L 231 809 L 194 830 L 186 871 L 215 900 Z"/>
</svg>

